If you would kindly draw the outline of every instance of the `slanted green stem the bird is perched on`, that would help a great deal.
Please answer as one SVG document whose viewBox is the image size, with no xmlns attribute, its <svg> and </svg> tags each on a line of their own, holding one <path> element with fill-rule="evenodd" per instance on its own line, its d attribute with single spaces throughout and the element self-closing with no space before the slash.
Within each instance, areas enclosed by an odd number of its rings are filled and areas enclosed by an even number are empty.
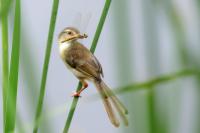
<svg viewBox="0 0 200 133">
<path fill-rule="evenodd" d="M 101 18 L 100 18 L 99 24 L 97 26 L 97 30 L 95 32 L 95 36 L 94 36 L 94 39 L 93 39 L 93 42 L 92 42 L 92 46 L 90 48 L 90 51 L 92 53 L 94 53 L 94 51 L 96 49 L 97 42 L 98 42 L 99 37 L 101 35 L 101 31 L 103 29 L 103 25 L 104 25 L 106 16 L 108 14 L 108 10 L 109 10 L 110 4 L 111 4 L 111 0 L 106 0 L 104 8 L 103 8 L 103 12 L 101 14 Z M 77 87 L 77 91 L 79 91 L 81 89 L 81 86 L 82 85 L 79 82 L 78 87 Z M 76 106 L 77 106 L 77 103 L 78 103 L 78 99 L 79 98 L 74 97 L 74 99 L 72 101 L 72 104 L 71 104 L 71 107 L 70 107 L 70 111 L 69 111 L 69 114 L 68 114 L 68 117 L 67 117 L 67 121 L 65 123 L 65 127 L 64 127 L 64 130 L 63 130 L 63 133 L 68 133 L 68 131 L 69 131 L 69 127 L 70 127 L 70 124 L 71 124 L 71 121 L 72 121 L 72 118 L 73 118 L 73 115 L 74 115 L 74 112 L 75 112 L 75 109 L 76 109 Z"/>
</svg>

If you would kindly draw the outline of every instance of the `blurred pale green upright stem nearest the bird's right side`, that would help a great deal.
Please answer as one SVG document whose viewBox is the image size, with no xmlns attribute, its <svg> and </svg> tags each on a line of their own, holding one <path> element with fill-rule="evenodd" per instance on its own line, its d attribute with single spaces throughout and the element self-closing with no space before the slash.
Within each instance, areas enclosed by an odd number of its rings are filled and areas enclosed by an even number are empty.
<svg viewBox="0 0 200 133">
<path fill-rule="evenodd" d="M 133 66 L 132 66 L 132 38 L 131 34 L 131 21 L 129 16 L 128 0 L 115 0 L 113 1 L 113 30 L 114 30 L 114 51 L 116 52 L 117 77 L 120 84 L 128 84 L 132 81 Z M 124 71 L 126 69 L 126 71 Z M 132 104 L 132 103 L 131 103 Z"/>
</svg>

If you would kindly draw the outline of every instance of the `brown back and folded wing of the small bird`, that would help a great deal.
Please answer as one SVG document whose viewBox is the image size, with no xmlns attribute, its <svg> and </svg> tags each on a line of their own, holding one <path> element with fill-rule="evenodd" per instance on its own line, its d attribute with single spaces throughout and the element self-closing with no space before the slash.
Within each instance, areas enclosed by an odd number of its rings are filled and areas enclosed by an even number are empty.
<svg viewBox="0 0 200 133">
<path fill-rule="evenodd" d="M 66 63 L 85 76 L 100 78 L 100 75 L 103 75 L 99 61 L 82 44 L 74 44 L 65 54 Z"/>
</svg>

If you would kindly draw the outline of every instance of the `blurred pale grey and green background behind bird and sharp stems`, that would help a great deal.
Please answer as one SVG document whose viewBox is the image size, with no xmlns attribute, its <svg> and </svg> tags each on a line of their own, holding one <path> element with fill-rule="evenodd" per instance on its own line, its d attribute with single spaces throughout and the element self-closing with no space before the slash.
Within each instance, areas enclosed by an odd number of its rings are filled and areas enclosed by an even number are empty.
<svg viewBox="0 0 200 133">
<path fill-rule="evenodd" d="M 17 133 L 32 132 L 52 2 L 21 0 Z M 40 133 L 62 132 L 72 101 L 71 94 L 78 83 L 59 57 L 58 34 L 67 26 L 75 26 L 88 34 L 82 43 L 89 48 L 104 3 L 103 0 L 60 0 Z M 9 11 L 9 41 L 13 16 L 14 2 Z M 102 64 L 104 80 L 115 89 L 188 68 L 199 69 L 199 42 L 199 0 L 113 0 L 95 55 Z M 0 62 L 2 67 L 2 54 Z M 90 84 L 82 93 L 70 133 L 200 132 L 198 76 L 183 76 L 171 82 L 118 94 L 129 110 L 128 127 L 113 127 L 101 100 L 91 98 L 93 94 L 96 94 L 96 89 Z M 3 132 L 2 91 L 0 99 L 0 132 Z"/>
</svg>

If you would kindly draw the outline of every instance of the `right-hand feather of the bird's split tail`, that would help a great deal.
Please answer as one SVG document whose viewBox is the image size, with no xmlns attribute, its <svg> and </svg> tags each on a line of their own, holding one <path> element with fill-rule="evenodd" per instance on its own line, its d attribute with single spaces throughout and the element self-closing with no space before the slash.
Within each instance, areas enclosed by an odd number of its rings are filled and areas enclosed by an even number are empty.
<svg viewBox="0 0 200 133">
<path fill-rule="evenodd" d="M 105 98 L 107 100 L 110 99 L 111 102 L 113 103 L 114 107 L 118 111 L 118 113 L 119 113 L 121 119 L 123 120 L 124 124 L 126 126 L 128 126 L 128 120 L 127 120 L 127 117 L 126 117 L 126 114 L 128 114 L 128 110 L 121 103 L 121 101 L 115 96 L 115 94 L 112 92 L 112 90 L 103 81 L 95 82 L 95 85 L 96 85 L 97 89 L 100 90 L 100 92 L 101 92 L 100 94 L 102 95 L 103 101 L 104 101 Z"/>
</svg>

